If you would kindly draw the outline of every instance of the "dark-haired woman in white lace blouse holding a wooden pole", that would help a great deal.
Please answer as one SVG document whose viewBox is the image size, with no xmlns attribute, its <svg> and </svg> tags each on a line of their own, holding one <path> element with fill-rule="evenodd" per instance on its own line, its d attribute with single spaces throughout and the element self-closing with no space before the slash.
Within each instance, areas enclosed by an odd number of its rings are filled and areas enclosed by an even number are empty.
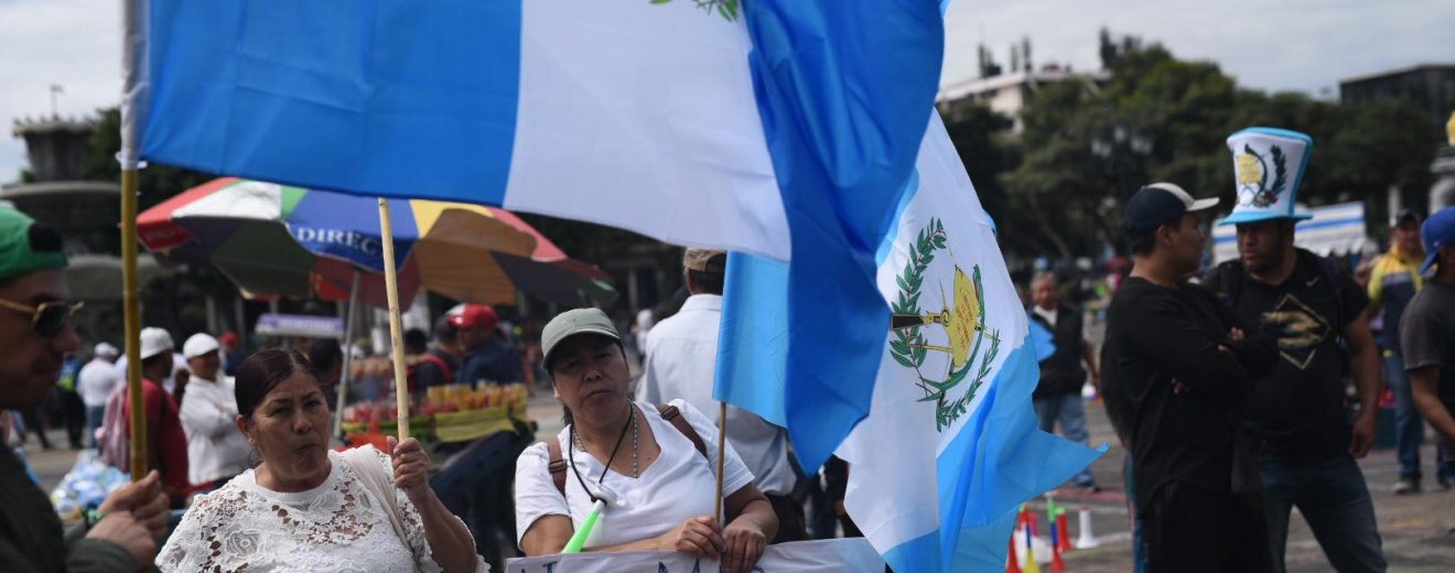
<svg viewBox="0 0 1455 573">
<path fill-rule="evenodd" d="M 470 531 L 429 489 L 419 442 L 329 451 L 329 404 L 298 352 L 237 366 L 237 428 L 262 464 L 196 497 L 163 572 L 485 572 Z"/>
</svg>

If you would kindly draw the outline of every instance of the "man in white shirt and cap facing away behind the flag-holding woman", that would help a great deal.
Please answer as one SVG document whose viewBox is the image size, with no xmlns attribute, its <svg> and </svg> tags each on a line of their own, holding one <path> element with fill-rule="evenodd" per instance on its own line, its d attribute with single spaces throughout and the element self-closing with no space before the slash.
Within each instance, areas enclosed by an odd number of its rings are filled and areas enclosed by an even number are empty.
<svg viewBox="0 0 1455 573">
<path fill-rule="evenodd" d="M 652 327 L 637 398 L 658 404 L 684 398 L 716 425 L 719 404 L 713 400 L 713 380 L 728 255 L 687 249 L 682 268 L 691 297 L 677 314 Z M 806 540 L 803 506 L 792 497 L 797 474 L 789 464 L 787 432 L 751 412 L 729 406 L 728 442 L 757 477 L 754 481 L 778 515 L 778 534 L 771 541 Z"/>
</svg>

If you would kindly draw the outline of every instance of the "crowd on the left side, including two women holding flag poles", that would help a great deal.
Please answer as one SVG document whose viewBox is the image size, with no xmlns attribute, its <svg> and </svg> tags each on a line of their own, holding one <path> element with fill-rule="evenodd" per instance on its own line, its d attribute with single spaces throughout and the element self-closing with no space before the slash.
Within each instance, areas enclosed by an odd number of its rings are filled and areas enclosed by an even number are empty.
<svg viewBox="0 0 1455 573">
<path fill-rule="evenodd" d="M 809 538 L 805 489 L 781 428 L 733 409 L 725 454 L 707 446 L 717 441 L 710 391 L 723 252 L 688 250 L 691 297 L 677 316 L 647 324 L 650 343 L 645 329 L 623 334 L 594 308 L 557 316 L 524 356 L 489 305 L 458 307 L 432 336 L 409 333 L 415 391 L 514 384 L 538 371 L 567 417 L 557 439 L 512 452 L 517 464 L 476 476 L 466 490 L 435 492 L 416 439 L 390 438 L 387 452 L 336 451 L 330 410 L 343 350 L 333 340 L 243 356 L 231 333 L 195 333 L 178 348 L 167 330 L 146 327 L 137 365 L 144 410 L 132 413 L 116 346 L 96 343 L 84 365 L 68 365 L 81 352 L 70 321 L 79 304 L 68 302 L 60 239 L 9 208 L 0 208 L 0 324 L 3 342 L 17 349 L 0 374 L 23 390 L 0 394 L 0 409 L 38 412 L 68 375 L 83 422 L 76 439 L 92 436 L 80 446 L 129 468 L 129 422 L 141 414 L 154 468 L 63 537 L 23 461 L 4 448 L 0 569 L 64 570 L 58 560 L 68 560 L 76 570 L 483 570 L 506 554 L 559 551 L 605 490 L 621 508 L 585 538 L 589 550 L 687 551 L 746 572 L 770 542 Z M 454 454 L 450 445 L 432 452 Z M 723 522 L 711 516 L 719 465 Z M 23 526 L 17 510 L 41 506 L 42 526 Z M 824 513 L 822 500 L 816 508 Z M 169 521 L 175 515 L 180 522 Z M 20 529 L 29 534 L 12 535 Z M 835 535 L 832 525 L 822 529 L 819 537 Z M 502 540 L 518 551 L 502 553 Z"/>
</svg>

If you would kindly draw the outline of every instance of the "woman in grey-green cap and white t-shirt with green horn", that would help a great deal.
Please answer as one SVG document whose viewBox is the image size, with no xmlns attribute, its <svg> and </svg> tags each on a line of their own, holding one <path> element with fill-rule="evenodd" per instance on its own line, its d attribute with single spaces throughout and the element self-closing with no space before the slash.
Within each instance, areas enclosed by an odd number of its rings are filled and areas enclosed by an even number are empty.
<svg viewBox="0 0 1455 573">
<path fill-rule="evenodd" d="M 630 400 L 621 336 L 605 313 L 562 313 L 541 333 L 546 371 L 566 409 L 556 439 L 525 449 L 515 467 L 515 524 L 527 556 L 559 553 L 607 508 L 588 551 L 682 551 L 752 570 L 777 532 L 773 506 L 729 445 L 722 462 L 726 525 L 713 518 L 717 429 L 682 400 Z"/>
</svg>

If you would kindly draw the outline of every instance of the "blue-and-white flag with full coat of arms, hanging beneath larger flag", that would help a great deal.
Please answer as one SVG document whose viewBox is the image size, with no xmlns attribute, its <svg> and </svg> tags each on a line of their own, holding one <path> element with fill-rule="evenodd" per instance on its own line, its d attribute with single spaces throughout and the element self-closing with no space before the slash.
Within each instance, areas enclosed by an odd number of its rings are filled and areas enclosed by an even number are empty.
<svg viewBox="0 0 1455 573">
<path fill-rule="evenodd" d="M 1099 452 L 1036 428 L 1027 317 L 938 118 L 876 259 L 893 316 L 873 333 L 882 352 L 873 407 L 837 451 L 850 462 L 848 513 L 895 570 L 1001 570 L 1016 508 Z M 781 361 L 835 356 L 799 352 L 799 329 L 774 318 L 800 304 L 783 288 L 784 271 L 730 257 L 717 396 L 787 423 L 794 439 L 837 441 L 824 435 L 829 428 L 794 426 L 793 412 L 812 397 L 794 390 L 800 380 Z"/>
</svg>

